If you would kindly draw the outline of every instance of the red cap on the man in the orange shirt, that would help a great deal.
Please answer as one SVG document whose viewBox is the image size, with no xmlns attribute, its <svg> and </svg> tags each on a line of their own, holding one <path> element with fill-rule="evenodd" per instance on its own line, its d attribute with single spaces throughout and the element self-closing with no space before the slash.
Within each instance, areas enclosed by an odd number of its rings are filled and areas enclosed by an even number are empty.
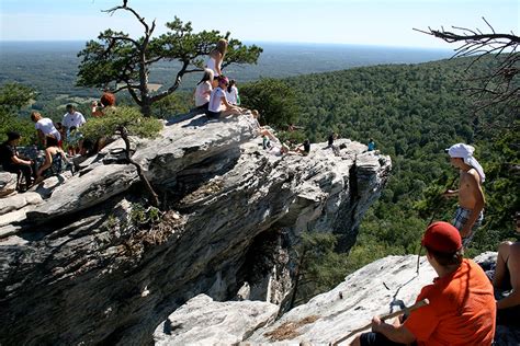
<svg viewBox="0 0 520 346">
<path fill-rule="evenodd" d="M 444 221 L 428 226 L 420 243 L 422 246 L 442 253 L 454 253 L 462 247 L 459 230 Z"/>
</svg>

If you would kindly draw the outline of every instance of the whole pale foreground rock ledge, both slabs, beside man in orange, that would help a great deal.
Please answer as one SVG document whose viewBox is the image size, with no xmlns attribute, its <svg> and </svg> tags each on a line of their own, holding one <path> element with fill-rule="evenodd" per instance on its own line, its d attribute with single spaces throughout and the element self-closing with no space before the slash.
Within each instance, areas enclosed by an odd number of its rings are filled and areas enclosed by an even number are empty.
<svg viewBox="0 0 520 346">
<path fill-rule="evenodd" d="M 485 253 L 475 261 L 495 262 L 496 256 Z M 381 258 L 276 321 L 270 303 L 216 302 L 200 295 L 159 324 L 154 338 L 158 345 L 330 345 L 341 339 L 339 345 L 349 345 L 357 335 L 347 337 L 352 331 L 370 324 L 373 315 L 409 307 L 432 282 L 437 274 L 426 257 L 418 272 L 417 264 L 414 255 Z M 499 325 L 495 343 L 517 346 L 520 331 Z"/>
</svg>

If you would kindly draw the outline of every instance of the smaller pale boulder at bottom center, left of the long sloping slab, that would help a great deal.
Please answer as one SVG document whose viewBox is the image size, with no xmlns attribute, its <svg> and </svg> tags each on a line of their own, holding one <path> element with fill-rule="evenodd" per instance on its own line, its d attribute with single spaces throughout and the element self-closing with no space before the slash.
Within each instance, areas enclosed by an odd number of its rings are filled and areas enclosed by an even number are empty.
<svg viewBox="0 0 520 346">
<path fill-rule="evenodd" d="M 154 333 L 156 345 L 234 345 L 274 321 L 279 307 L 261 301 L 190 299 Z"/>
</svg>

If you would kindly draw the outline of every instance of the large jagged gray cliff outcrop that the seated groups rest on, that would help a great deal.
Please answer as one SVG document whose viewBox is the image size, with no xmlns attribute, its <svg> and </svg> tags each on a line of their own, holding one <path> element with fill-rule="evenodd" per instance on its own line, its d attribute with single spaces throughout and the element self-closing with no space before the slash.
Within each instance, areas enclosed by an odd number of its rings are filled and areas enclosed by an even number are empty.
<svg viewBox="0 0 520 346">
<path fill-rule="evenodd" d="M 257 132 L 248 115 L 199 116 L 133 139 L 160 210 L 148 207 L 120 141 L 72 176 L 0 199 L 0 344 L 151 343 L 200 293 L 211 297 L 202 305 L 245 296 L 280 304 L 303 231 L 335 232 L 347 250 L 389 158 L 347 139 L 279 157 Z"/>
</svg>

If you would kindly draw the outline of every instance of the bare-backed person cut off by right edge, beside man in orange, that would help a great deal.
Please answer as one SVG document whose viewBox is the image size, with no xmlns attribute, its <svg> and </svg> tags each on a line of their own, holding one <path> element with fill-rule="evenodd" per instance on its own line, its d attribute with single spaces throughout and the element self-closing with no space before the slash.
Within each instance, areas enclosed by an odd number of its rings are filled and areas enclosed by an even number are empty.
<svg viewBox="0 0 520 346">
<path fill-rule="evenodd" d="M 515 217 L 520 233 L 520 211 Z M 508 241 L 498 247 L 493 287 L 498 298 L 497 324 L 520 327 L 520 242 Z"/>
</svg>

